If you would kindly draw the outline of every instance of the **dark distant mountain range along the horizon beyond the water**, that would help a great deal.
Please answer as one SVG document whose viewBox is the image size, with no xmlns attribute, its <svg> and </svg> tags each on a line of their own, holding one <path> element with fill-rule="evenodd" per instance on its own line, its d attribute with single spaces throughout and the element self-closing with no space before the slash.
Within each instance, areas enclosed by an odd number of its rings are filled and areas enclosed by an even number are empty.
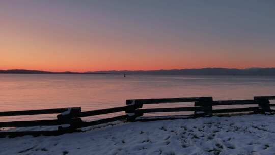
<svg viewBox="0 0 275 155">
<path fill-rule="evenodd" d="M 0 70 L 0 73 L 14 74 L 147 74 L 147 75 L 245 75 L 245 76 L 275 76 L 275 68 L 201 68 L 201 69 L 172 69 L 172 70 L 111 70 L 93 72 L 49 72 L 40 70 Z"/>
</svg>

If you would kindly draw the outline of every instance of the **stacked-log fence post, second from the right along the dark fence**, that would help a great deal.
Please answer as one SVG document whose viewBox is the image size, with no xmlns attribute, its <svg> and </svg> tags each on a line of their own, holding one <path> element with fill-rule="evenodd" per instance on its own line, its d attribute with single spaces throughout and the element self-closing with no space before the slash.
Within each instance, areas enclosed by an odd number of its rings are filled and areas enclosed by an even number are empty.
<svg viewBox="0 0 275 155">
<path fill-rule="evenodd" d="M 201 107 L 203 110 L 195 110 L 195 117 L 212 116 L 212 102 L 212 97 L 200 97 L 199 101 L 196 101 L 194 106 L 198 108 Z"/>
</svg>

